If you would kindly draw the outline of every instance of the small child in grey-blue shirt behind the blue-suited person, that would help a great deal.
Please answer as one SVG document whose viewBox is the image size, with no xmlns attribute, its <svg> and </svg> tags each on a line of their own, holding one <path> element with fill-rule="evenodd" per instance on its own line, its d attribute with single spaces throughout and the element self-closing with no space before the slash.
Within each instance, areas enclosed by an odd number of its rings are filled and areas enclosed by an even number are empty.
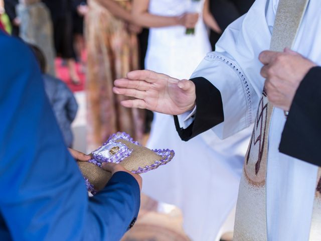
<svg viewBox="0 0 321 241">
<path fill-rule="evenodd" d="M 31 48 L 38 60 L 44 79 L 45 91 L 56 116 L 61 133 L 63 134 L 66 146 L 72 147 L 73 134 L 71 131 L 71 123 L 74 121 L 77 114 L 77 101 L 71 90 L 62 80 L 46 74 L 46 59 L 41 50 L 33 45 L 31 45 Z"/>
</svg>

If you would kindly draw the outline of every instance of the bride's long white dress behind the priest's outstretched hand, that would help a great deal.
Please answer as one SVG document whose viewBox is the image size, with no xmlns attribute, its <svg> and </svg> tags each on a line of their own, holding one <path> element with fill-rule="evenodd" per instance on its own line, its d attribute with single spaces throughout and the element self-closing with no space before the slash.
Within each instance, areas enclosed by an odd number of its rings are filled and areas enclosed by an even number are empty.
<svg viewBox="0 0 321 241">
<path fill-rule="evenodd" d="M 203 1 L 150 0 L 149 12 L 178 16 L 203 9 Z M 151 28 L 145 59 L 146 69 L 188 79 L 205 55 L 211 51 L 202 17 L 195 35 L 185 27 Z M 171 163 L 142 175 L 142 192 L 180 207 L 184 229 L 192 240 L 215 240 L 220 227 L 235 206 L 250 130 L 221 141 L 208 131 L 183 142 L 172 115 L 154 113 L 147 147 L 172 149 Z"/>
</svg>

